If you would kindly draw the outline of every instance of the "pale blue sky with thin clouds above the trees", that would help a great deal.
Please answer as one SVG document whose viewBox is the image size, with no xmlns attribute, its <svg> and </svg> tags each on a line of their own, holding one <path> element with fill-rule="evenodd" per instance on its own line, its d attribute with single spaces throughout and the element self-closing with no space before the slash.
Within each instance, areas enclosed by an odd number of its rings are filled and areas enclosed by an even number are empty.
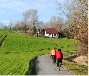
<svg viewBox="0 0 89 76">
<path fill-rule="evenodd" d="M 60 16 L 56 2 L 64 5 L 66 0 L 0 0 L 0 23 L 22 20 L 23 12 L 29 9 L 38 10 L 39 21 L 48 22 L 52 16 Z"/>
</svg>

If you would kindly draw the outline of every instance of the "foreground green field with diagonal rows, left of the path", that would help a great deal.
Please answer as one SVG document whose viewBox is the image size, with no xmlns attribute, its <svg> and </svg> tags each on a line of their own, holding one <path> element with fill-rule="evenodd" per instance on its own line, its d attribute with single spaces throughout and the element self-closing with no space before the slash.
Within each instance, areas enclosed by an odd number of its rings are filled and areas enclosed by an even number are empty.
<svg viewBox="0 0 89 76">
<path fill-rule="evenodd" d="M 0 54 L 0 74 L 25 74 L 28 69 L 28 60 L 30 60 L 31 57 L 32 56 L 29 56 L 29 53 L 22 52 L 16 54 Z"/>
</svg>

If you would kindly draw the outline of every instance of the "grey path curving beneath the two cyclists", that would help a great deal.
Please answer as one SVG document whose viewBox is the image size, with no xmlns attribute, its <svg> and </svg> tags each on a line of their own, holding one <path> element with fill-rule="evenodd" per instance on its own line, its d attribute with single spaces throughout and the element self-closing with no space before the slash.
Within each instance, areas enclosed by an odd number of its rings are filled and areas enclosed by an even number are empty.
<svg viewBox="0 0 89 76">
<path fill-rule="evenodd" d="M 39 56 L 36 60 L 36 74 L 37 75 L 73 75 L 66 67 L 62 65 L 59 71 L 56 64 L 52 63 L 49 54 Z"/>
</svg>

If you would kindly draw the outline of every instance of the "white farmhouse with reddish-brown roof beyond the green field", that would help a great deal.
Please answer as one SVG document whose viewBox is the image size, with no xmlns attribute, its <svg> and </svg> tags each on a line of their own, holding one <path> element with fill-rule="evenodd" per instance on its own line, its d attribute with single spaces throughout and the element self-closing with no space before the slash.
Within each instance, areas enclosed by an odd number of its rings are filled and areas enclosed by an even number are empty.
<svg viewBox="0 0 89 76">
<path fill-rule="evenodd" d="M 58 31 L 55 28 L 47 28 L 45 29 L 46 37 L 58 37 Z"/>
</svg>

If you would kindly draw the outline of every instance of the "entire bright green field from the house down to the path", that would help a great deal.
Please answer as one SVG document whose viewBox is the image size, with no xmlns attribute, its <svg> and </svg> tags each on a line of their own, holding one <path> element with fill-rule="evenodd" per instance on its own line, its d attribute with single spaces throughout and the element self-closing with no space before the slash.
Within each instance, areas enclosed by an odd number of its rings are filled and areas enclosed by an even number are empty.
<svg viewBox="0 0 89 76">
<path fill-rule="evenodd" d="M 42 38 L 15 32 L 9 33 L 0 47 L 0 75 L 24 75 L 28 71 L 32 58 L 50 53 L 54 47 L 61 48 L 63 52 L 73 52 L 78 49 L 72 39 Z"/>
</svg>

